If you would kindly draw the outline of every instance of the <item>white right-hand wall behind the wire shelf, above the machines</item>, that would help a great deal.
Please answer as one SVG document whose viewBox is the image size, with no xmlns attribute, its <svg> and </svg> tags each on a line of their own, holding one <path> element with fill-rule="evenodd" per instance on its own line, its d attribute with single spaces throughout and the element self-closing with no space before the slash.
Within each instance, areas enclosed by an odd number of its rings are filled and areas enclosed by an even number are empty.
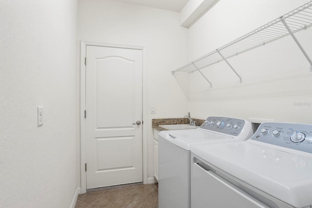
<svg viewBox="0 0 312 208">
<path fill-rule="evenodd" d="M 189 29 L 189 61 L 304 3 L 307 0 L 220 0 Z M 295 35 L 312 57 L 312 28 Z M 310 64 L 290 36 L 228 61 L 242 76 L 242 83 L 224 61 L 203 70 L 213 83 L 212 89 L 199 73 L 189 76 L 186 94 L 194 117 L 223 115 L 312 123 Z"/>
</svg>

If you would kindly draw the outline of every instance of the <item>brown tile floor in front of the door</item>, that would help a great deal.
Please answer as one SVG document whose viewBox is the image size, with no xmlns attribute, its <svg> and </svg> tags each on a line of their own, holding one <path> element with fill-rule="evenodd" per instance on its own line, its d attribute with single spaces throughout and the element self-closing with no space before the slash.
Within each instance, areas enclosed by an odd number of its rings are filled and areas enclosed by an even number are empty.
<svg viewBox="0 0 312 208">
<path fill-rule="evenodd" d="M 76 208 L 158 208 L 157 184 L 98 190 L 78 196 Z"/>
</svg>

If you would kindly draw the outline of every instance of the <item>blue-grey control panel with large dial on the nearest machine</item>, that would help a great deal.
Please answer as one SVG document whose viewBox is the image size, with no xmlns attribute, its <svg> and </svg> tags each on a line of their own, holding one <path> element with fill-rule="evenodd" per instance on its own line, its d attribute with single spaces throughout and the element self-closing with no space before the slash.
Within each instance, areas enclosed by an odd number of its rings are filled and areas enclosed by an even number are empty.
<svg viewBox="0 0 312 208">
<path fill-rule="evenodd" d="M 251 139 L 312 153 L 312 125 L 308 124 L 265 122 Z"/>
</svg>

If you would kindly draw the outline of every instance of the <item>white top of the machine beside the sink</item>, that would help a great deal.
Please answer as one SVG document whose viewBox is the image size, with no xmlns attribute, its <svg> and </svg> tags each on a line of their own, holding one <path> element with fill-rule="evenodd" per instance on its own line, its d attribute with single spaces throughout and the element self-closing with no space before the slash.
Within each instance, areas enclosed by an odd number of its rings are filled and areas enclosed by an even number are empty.
<svg viewBox="0 0 312 208">
<path fill-rule="evenodd" d="M 226 142 L 234 141 L 232 136 L 223 135 L 220 133 L 208 132 L 200 129 L 188 130 L 172 130 L 159 132 L 159 139 L 163 138 L 176 146 L 190 151 L 196 145 L 209 142 Z"/>
</svg>

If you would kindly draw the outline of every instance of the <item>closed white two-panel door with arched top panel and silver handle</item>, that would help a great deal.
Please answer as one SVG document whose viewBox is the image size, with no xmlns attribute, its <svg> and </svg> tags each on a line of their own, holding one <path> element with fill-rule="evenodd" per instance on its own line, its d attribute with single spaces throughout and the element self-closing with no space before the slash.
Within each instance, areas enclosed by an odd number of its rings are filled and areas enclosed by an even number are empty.
<svg viewBox="0 0 312 208">
<path fill-rule="evenodd" d="M 143 181 L 139 122 L 142 51 L 87 46 L 87 189 Z"/>
</svg>

